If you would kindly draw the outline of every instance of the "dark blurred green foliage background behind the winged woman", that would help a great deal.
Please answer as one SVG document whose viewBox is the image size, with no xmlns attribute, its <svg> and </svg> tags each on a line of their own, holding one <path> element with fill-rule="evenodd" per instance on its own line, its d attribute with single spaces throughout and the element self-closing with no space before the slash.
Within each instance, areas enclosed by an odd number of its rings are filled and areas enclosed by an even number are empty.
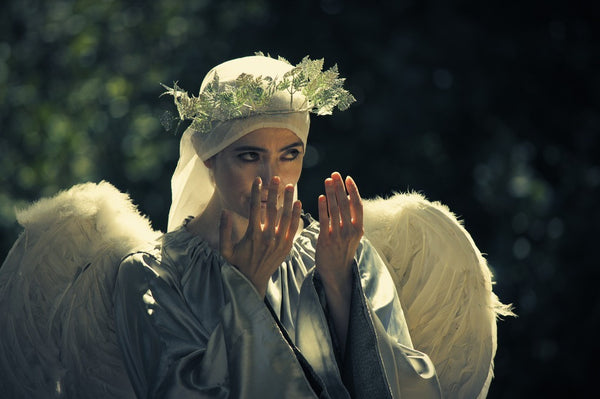
<svg viewBox="0 0 600 399">
<path fill-rule="evenodd" d="M 487 254 L 499 323 L 490 398 L 591 389 L 600 345 L 598 3 L 9 0 L 0 13 L 0 253 L 14 208 L 108 180 L 165 229 L 178 136 L 159 83 L 264 51 L 338 63 L 358 99 L 313 118 L 300 198 L 447 204 Z M 595 385 L 595 384 L 594 384 Z"/>
</svg>

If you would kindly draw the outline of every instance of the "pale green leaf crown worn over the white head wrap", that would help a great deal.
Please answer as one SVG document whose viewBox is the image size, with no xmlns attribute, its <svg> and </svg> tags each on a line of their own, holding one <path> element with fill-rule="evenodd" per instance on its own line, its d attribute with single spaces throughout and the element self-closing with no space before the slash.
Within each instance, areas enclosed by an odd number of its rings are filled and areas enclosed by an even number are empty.
<svg viewBox="0 0 600 399">
<path fill-rule="evenodd" d="M 264 56 L 261 52 L 256 55 Z M 290 64 L 285 58 L 277 59 Z M 337 65 L 323 71 L 323 63 L 323 59 L 311 60 L 306 56 L 281 78 L 242 73 L 231 82 L 220 82 L 215 72 L 213 80 L 198 96 L 190 96 L 177 82 L 173 87 L 161 83 L 166 89 L 162 95 L 173 96 L 179 119 L 191 120 L 191 128 L 201 133 L 210 132 L 219 123 L 258 114 L 308 111 L 330 115 L 335 107 L 343 111 L 356 99 L 343 88 L 345 78 L 339 77 Z M 276 92 L 289 95 L 287 111 L 269 108 Z M 304 101 L 294 107 L 294 96 L 298 93 L 304 96 Z"/>
</svg>

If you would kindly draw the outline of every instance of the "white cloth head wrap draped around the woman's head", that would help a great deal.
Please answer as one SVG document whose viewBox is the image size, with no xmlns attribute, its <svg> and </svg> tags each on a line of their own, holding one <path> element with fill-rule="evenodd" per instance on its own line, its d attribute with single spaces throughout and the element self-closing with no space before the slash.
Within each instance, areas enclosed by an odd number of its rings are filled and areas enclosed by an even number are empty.
<svg viewBox="0 0 600 399">
<path fill-rule="evenodd" d="M 211 69 L 200 87 L 202 92 L 217 73 L 222 84 L 232 84 L 242 73 L 253 76 L 281 78 L 294 66 L 264 56 L 251 56 L 227 61 Z M 179 144 L 179 161 L 171 178 L 172 202 L 169 210 L 168 231 L 176 229 L 188 216 L 200 214 L 210 200 L 214 187 L 204 161 L 222 151 L 248 133 L 265 127 L 285 128 L 294 132 L 304 143 L 308 137 L 310 118 L 305 109 L 306 99 L 295 94 L 290 107 L 290 96 L 276 92 L 268 106 L 268 113 L 236 118 L 218 124 L 208 133 L 188 128 Z"/>
</svg>

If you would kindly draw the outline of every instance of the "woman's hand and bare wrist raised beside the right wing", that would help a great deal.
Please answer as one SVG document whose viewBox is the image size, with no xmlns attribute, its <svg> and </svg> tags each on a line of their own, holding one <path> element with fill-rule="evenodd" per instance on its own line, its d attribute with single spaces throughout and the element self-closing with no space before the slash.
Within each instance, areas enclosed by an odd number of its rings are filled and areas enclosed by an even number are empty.
<svg viewBox="0 0 600 399">
<path fill-rule="evenodd" d="M 323 281 L 327 304 L 340 342 L 346 346 L 352 290 L 352 264 L 363 236 L 363 207 L 358 187 L 350 176 L 346 182 L 335 172 L 325 180 L 319 197 L 319 223 L 315 262 Z"/>
</svg>

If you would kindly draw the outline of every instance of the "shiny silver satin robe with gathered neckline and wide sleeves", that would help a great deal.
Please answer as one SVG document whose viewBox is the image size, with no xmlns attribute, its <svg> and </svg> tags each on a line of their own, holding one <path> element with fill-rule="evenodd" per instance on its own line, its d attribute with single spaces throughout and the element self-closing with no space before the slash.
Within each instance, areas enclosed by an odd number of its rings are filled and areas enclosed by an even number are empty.
<svg viewBox="0 0 600 399">
<path fill-rule="evenodd" d="M 317 236 L 313 223 L 269 282 L 274 314 L 235 267 L 185 229 L 166 234 L 156 254 L 126 258 L 115 317 L 137 396 L 439 397 L 433 365 L 412 349 L 391 277 L 367 241 L 356 257 L 349 350 L 338 362 L 315 287 Z M 299 358 L 318 376 L 321 396 Z"/>
</svg>

